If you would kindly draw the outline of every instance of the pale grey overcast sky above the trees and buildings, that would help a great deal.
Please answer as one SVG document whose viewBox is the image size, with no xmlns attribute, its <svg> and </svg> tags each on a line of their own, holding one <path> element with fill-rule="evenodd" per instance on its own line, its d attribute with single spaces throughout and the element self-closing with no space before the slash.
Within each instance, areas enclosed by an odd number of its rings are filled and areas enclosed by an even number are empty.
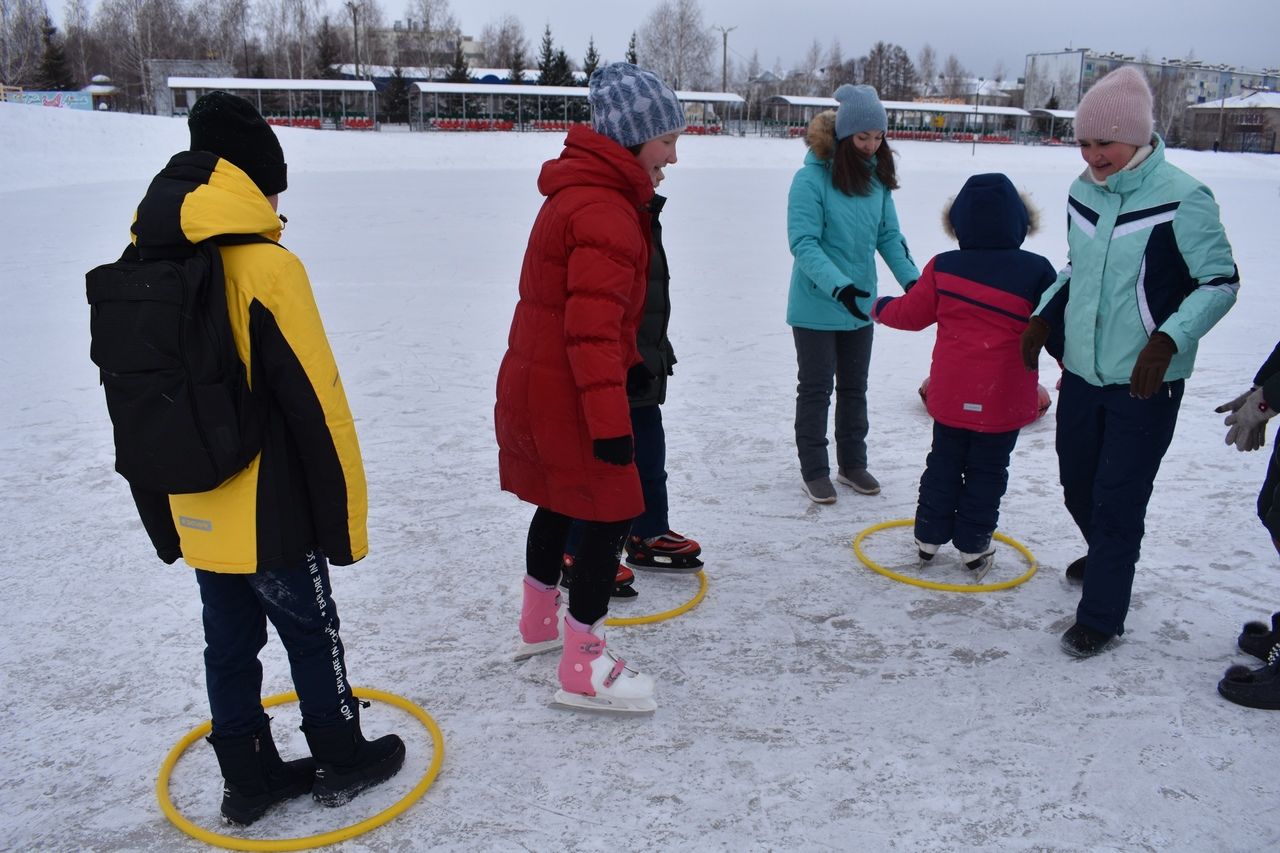
<svg viewBox="0 0 1280 853">
<path fill-rule="evenodd" d="M 329 0 L 337 4 L 337 0 Z M 404 0 L 381 0 L 388 23 L 404 17 Z M 466 35 L 506 13 L 525 26 L 536 50 L 550 24 L 557 47 L 577 63 L 588 38 L 607 60 L 622 59 L 631 32 L 659 0 L 584 3 L 582 0 L 452 0 Z M 1020 77 L 1029 53 L 1089 47 L 1101 53 L 1185 58 L 1252 69 L 1280 68 L 1280 0 L 700 0 L 708 27 L 736 27 L 730 56 L 740 63 L 759 53 L 760 65 L 797 64 L 814 38 L 823 51 L 838 40 L 845 58 L 863 55 L 877 41 L 901 45 L 914 60 L 925 44 L 938 63 L 955 54 L 974 74 L 991 74 L 1004 61 L 1007 77 Z M 719 33 L 716 33 L 718 45 Z M 714 67 L 719 68 L 721 51 Z"/>
</svg>

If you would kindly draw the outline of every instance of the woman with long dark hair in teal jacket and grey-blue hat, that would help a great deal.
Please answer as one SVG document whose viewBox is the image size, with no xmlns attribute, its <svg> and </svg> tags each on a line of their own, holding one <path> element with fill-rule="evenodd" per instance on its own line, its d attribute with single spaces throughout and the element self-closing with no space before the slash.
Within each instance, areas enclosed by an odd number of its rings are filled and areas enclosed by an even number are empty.
<svg viewBox="0 0 1280 853">
<path fill-rule="evenodd" d="M 861 494 L 879 483 L 867 470 L 867 373 L 876 301 L 876 252 L 893 278 L 920 277 L 897 227 L 893 152 L 884 106 L 870 86 L 841 86 L 837 110 L 809 123 L 804 167 L 787 197 L 787 240 L 795 263 L 787 324 L 796 342 L 796 452 L 805 494 L 832 503 L 827 411 L 836 388 L 836 479 Z"/>
</svg>

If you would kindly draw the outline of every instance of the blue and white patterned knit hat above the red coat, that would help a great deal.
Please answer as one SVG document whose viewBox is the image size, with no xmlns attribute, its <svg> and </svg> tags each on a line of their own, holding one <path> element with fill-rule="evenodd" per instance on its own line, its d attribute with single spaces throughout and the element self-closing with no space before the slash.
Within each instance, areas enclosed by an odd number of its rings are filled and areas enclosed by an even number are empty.
<svg viewBox="0 0 1280 853">
<path fill-rule="evenodd" d="M 596 68 L 586 99 L 595 132 L 625 149 L 685 129 L 685 109 L 671 87 L 631 63 Z"/>
</svg>

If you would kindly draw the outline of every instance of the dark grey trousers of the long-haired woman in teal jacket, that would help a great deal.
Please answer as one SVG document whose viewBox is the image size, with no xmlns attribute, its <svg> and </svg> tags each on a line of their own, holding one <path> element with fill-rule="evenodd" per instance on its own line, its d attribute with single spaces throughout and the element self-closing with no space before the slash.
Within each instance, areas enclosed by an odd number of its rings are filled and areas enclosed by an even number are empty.
<svg viewBox="0 0 1280 853">
<path fill-rule="evenodd" d="M 796 453 L 805 482 L 831 476 L 827 412 L 836 388 L 836 464 L 867 467 L 867 371 L 874 327 L 852 332 L 791 328 L 796 342 Z"/>
</svg>

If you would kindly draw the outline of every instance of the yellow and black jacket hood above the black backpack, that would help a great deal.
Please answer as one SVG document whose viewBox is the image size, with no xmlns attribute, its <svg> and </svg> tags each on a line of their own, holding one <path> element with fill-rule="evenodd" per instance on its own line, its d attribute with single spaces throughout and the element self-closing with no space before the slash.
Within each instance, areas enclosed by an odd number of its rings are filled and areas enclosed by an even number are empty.
<svg viewBox="0 0 1280 853">
<path fill-rule="evenodd" d="M 219 234 L 279 240 L 280 218 L 244 172 L 209 151 L 175 154 L 134 213 L 140 250 L 182 250 Z"/>
</svg>

